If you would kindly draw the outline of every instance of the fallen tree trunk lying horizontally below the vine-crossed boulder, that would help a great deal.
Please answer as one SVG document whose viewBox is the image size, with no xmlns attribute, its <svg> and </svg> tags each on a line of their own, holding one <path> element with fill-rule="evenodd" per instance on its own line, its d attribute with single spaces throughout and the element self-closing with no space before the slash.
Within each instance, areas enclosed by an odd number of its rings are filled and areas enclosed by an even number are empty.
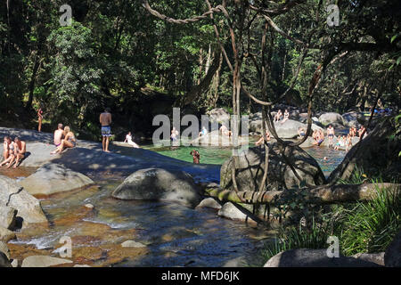
<svg viewBox="0 0 401 285">
<path fill-rule="evenodd" d="M 300 191 L 231 191 L 221 188 L 209 188 L 205 194 L 221 201 L 245 204 L 270 204 L 279 206 L 289 196 L 303 195 L 307 201 L 315 204 L 348 203 L 356 201 L 368 201 L 377 197 L 377 189 L 386 188 L 394 195 L 401 192 L 401 184 L 397 183 L 364 183 L 364 184 L 338 184 L 323 185 L 312 189 Z M 241 199 L 239 198 L 241 197 Z"/>
</svg>

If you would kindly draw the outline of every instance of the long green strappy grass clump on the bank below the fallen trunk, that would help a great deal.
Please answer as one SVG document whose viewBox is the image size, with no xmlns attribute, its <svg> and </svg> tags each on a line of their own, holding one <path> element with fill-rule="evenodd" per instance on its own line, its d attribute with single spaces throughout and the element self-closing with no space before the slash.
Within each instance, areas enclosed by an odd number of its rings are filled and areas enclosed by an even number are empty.
<svg viewBox="0 0 401 285">
<path fill-rule="evenodd" d="M 325 214 L 309 217 L 312 223 L 282 226 L 277 238 L 266 243 L 254 265 L 263 265 L 283 250 L 328 248 L 329 236 L 339 238 L 340 253 L 344 256 L 385 251 L 401 230 L 401 197 L 385 188 L 378 188 L 377 192 L 377 199 L 366 203 L 331 206 Z"/>
</svg>

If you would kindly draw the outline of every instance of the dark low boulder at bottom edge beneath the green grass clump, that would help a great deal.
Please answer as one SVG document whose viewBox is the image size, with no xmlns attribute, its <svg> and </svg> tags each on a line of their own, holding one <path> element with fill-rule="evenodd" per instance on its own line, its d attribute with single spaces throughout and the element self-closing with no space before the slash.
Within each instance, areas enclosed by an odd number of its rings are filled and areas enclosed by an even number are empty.
<svg viewBox="0 0 401 285">
<path fill-rule="evenodd" d="M 363 258 L 328 257 L 327 249 L 298 248 L 271 257 L 264 267 L 381 267 Z"/>
</svg>

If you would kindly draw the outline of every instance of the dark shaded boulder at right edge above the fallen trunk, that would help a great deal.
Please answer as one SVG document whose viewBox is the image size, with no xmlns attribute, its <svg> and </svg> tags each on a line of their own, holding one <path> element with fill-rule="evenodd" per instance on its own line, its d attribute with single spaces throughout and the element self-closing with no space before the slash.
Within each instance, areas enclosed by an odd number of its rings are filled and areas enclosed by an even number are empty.
<svg viewBox="0 0 401 285">
<path fill-rule="evenodd" d="M 383 118 L 381 123 L 361 142 L 348 151 L 346 157 L 331 173 L 329 181 L 347 180 L 357 169 L 368 177 L 381 175 L 385 182 L 400 180 L 401 126 L 395 118 Z"/>
</svg>

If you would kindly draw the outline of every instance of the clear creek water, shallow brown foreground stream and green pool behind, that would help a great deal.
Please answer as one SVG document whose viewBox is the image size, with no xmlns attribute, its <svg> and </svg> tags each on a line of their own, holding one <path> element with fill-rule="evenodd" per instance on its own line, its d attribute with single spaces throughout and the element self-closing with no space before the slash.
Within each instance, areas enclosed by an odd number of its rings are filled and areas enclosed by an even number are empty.
<svg viewBox="0 0 401 285">
<path fill-rule="evenodd" d="M 192 161 L 189 154 L 191 147 L 146 148 L 171 158 Z M 201 152 L 201 163 L 219 165 L 232 155 L 230 148 L 203 147 L 197 150 Z M 319 162 L 325 175 L 329 175 L 345 155 L 344 151 L 318 147 L 307 149 L 307 152 Z M 324 160 L 324 157 L 328 160 Z M 27 172 L 27 175 L 30 173 Z M 17 176 L 23 174 L 21 172 Z M 252 260 L 261 245 L 260 240 L 274 236 L 266 232 L 266 229 L 220 218 L 212 209 L 110 198 L 111 191 L 121 182 L 119 179 L 108 179 L 99 182 L 95 187 L 42 199 L 42 207 L 51 226 L 45 229 L 35 226 L 22 230 L 18 234 L 18 240 L 13 240 L 12 243 L 25 247 L 20 249 L 25 254 L 29 250 L 40 249 L 48 250 L 42 253 L 44 255 L 57 256 L 59 240 L 67 235 L 73 240 L 71 259 L 76 264 L 222 266 L 240 256 Z M 93 204 L 94 210 L 85 209 L 84 205 L 87 203 Z M 140 256 L 119 256 L 120 244 L 125 240 L 143 243 L 148 252 Z M 86 253 L 86 258 L 82 259 L 78 253 L 86 248 L 94 250 L 94 253 Z M 102 257 L 95 257 L 97 250 L 102 249 Z M 106 251 L 107 255 L 104 254 Z M 32 251 L 31 255 L 37 255 L 37 251 Z"/>
</svg>

